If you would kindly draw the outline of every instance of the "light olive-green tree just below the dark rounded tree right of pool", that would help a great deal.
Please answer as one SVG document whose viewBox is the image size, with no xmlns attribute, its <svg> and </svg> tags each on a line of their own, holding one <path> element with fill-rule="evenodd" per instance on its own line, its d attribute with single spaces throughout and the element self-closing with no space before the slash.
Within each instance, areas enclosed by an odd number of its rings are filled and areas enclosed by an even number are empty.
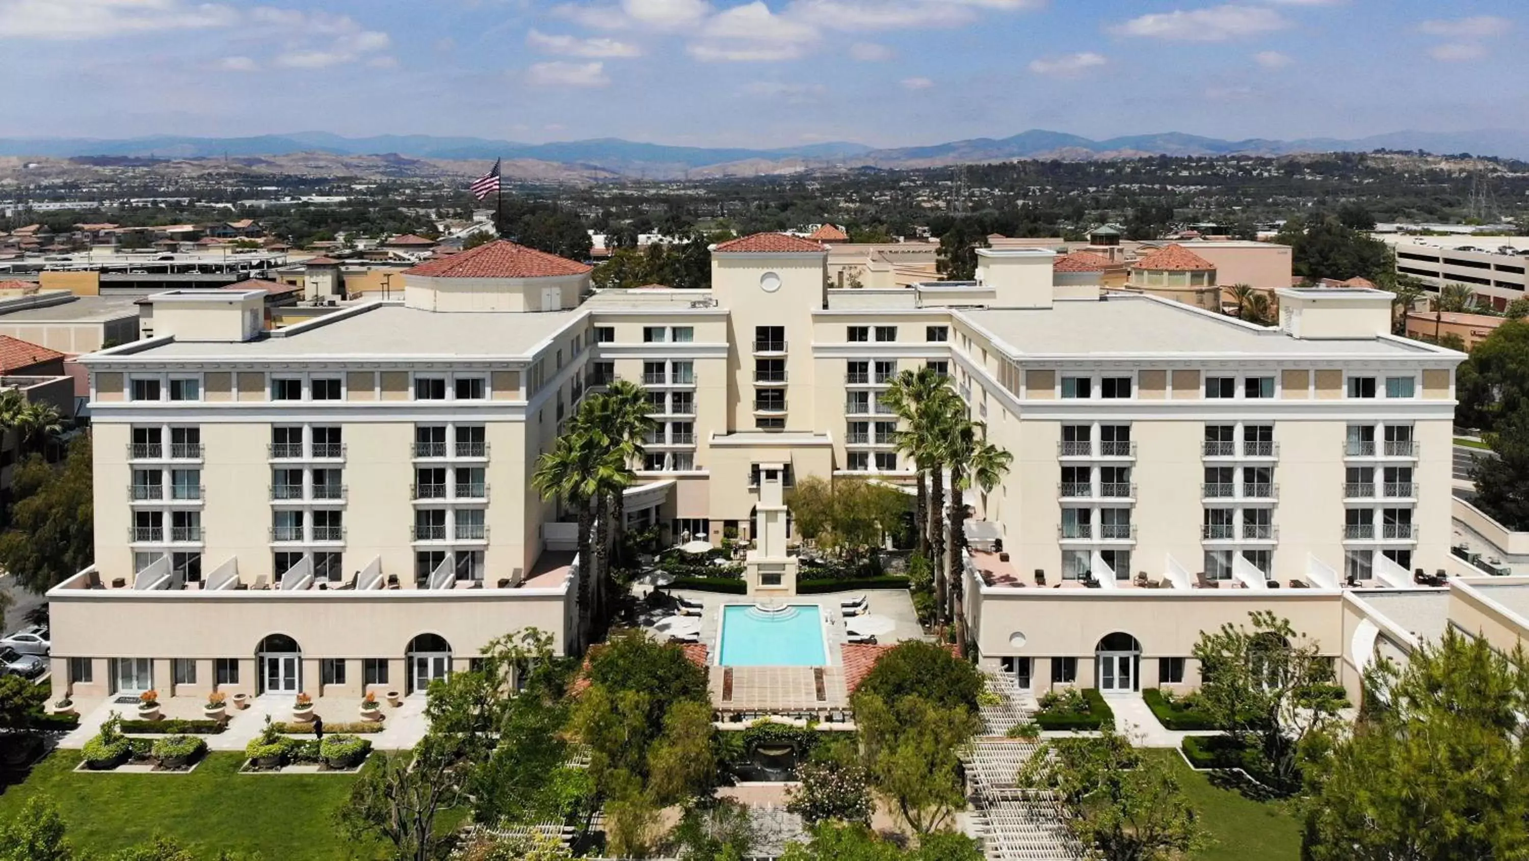
<svg viewBox="0 0 1529 861">
<path fill-rule="evenodd" d="M 872 783 L 913 830 L 942 829 L 965 803 L 960 755 L 979 728 L 976 714 L 920 696 L 887 702 L 864 690 L 853 705 Z"/>
</svg>

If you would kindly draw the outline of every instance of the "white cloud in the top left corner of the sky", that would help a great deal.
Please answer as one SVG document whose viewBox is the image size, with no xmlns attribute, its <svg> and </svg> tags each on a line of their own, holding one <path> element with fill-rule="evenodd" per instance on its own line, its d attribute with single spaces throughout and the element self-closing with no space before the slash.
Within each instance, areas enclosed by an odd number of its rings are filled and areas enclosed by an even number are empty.
<svg viewBox="0 0 1529 861">
<path fill-rule="evenodd" d="M 107 38 L 231 28 L 239 11 L 182 0 L 0 0 L 0 38 Z"/>
</svg>

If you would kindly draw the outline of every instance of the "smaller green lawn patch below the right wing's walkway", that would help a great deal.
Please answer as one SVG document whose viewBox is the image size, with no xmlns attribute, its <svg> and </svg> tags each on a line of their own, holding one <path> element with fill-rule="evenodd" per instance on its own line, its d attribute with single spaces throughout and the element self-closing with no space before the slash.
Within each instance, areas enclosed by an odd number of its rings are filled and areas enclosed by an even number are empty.
<svg viewBox="0 0 1529 861">
<path fill-rule="evenodd" d="M 1219 789 L 1174 751 L 1156 751 L 1179 766 L 1190 804 L 1203 817 L 1216 844 L 1194 861 L 1295 861 L 1301 856 L 1301 823 L 1278 801 L 1254 801 L 1235 789 Z"/>
</svg>

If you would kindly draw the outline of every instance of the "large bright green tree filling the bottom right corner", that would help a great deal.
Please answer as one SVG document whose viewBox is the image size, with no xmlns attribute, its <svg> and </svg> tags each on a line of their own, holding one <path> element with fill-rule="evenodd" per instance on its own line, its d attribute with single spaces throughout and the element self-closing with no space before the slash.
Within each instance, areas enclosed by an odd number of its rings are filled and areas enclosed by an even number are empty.
<svg viewBox="0 0 1529 861">
<path fill-rule="evenodd" d="M 1529 858 L 1529 671 L 1446 630 L 1367 679 L 1352 733 L 1309 768 L 1303 858 Z"/>
</svg>

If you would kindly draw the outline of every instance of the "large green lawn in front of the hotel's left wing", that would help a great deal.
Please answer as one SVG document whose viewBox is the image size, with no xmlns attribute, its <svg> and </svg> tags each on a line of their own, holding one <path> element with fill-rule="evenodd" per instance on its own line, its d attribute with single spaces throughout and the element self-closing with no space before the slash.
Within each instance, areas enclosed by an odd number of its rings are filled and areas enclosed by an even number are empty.
<svg viewBox="0 0 1529 861">
<path fill-rule="evenodd" d="M 187 775 L 75 774 L 80 751 L 57 751 L 21 785 L 0 794 L 0 820 L 32 795 L 47 795 L 83 858 L 142 843 L 154 833 L 177 840 L 199 858 L 219 850 L 265 858 L 385 858 L 381 844 L 355 844 L 335 832 L 330 815 L 346 800 L 350 775 L 237 774 L 242 754 L 209 754 Z"/>
</svg>

